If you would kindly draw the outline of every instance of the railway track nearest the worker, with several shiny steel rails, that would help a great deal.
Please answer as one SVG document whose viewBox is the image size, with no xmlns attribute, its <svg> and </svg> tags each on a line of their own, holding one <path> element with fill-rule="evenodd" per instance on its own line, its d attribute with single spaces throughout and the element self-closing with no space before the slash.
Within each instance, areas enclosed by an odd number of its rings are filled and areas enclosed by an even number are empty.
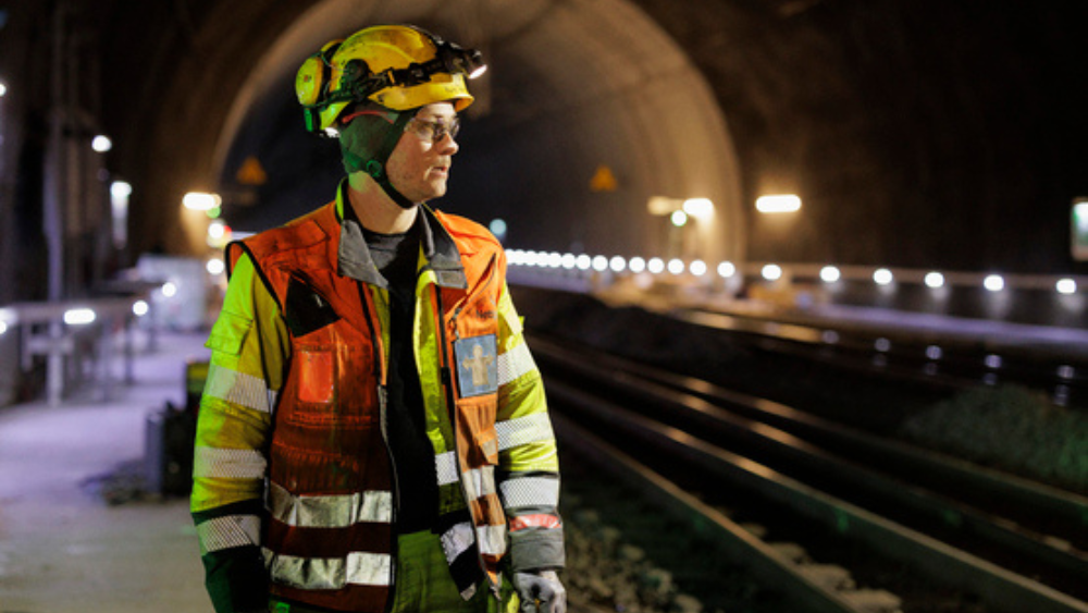
<svg viewBox="0 0 1088 613">
<path fill-rule="evenodd" d="M 791 610 L 1088 611 L 1084 496 L 583 348 L 532 344 L 561 439 L 721 543 Z M 900 578 L 882 586 L 881 576 Z M 957 604 L 935 608 L 935 598 Z"/>
</svg>

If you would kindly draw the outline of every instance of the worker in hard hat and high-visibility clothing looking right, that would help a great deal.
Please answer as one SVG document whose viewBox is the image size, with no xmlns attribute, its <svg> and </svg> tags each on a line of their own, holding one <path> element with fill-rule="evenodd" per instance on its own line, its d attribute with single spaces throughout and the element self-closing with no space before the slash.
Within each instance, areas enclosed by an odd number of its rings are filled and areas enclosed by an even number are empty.
<svg viewBox="0 0 1088 613">
<path fill-rule="evenodd" d="M 299 69 L 347 176 L 226 249 L 191 498 L 219 613 L 566 610 L 555 438 L 503 248 L 426 204 L 482 66 L 378 26 Z"/>
</svg>

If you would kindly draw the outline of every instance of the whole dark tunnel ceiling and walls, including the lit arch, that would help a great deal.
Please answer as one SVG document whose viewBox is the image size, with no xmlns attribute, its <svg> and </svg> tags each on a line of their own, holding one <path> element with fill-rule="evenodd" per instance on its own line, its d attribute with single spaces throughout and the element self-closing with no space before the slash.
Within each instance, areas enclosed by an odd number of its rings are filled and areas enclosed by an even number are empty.
<svg viewBox="0 0 1088 613">
<path fill-rule="evenodd" d="M 15 2 L 0 72 L 25 75 L 5 109 L 16 113 L 9 143 L 25 127 L 10 161 L 26 162 L 26 185 L 9 214 L 30 230 L 9 226 L 7 236 L 25 234 L 27 254 L 40 224 L 50 14 L 62 4 L 79 9 L 69 19 L 84 41 L 72 70 L 101 66 L 101 79 L 78 81 L 89 117 L 97 109 L 115 136 L 108 170 L 134 186 L 129 255 L 202 247 L 174 230 L 181 197 L 233 196 L 239 156 L 269 170 L 261 207 L 239 207 L 239 219 L 286 221 L 288 209 L 325 200 L 341 174 L 335 143 L 301 130 L 293 72 L 331 38 L 412 21 L 490 59 L 437 204 L 507 219 L 510 246 L 1088 270 L 1068 243 L 1070 204 L 1088 194 L 1088 3 Z M 590 191 L 603 165 L 617 191 Z M 765 193 L 799 194 L 804 207 L 753 214 Z M 644 212 L 652 196 L 713 198 L 717 218 L 697 226 L 709 235 L 688 231 L 690 243 L 677 245 Z M 290 206 L 280 212 L 273 200 Z"/>
</svg>

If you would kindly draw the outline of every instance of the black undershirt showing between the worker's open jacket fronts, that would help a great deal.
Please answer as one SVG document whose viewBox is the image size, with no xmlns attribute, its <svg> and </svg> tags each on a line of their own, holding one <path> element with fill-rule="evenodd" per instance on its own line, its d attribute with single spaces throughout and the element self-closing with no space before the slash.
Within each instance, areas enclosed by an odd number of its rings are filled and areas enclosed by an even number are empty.
<svg viewBox="0 0 1088 613">
<path fill-rule="evenodd" d="M 360 224 L 361 225 L 361 224 Z M 390 284 L 388 439 L 398 492 L 397 529 L 428 530 L 438 510 L 434 448 L 426 437 L 423 394 L 412 350 L 420 226 L 404 234 L 363 229 L 374 266 Z"/>
</svg>

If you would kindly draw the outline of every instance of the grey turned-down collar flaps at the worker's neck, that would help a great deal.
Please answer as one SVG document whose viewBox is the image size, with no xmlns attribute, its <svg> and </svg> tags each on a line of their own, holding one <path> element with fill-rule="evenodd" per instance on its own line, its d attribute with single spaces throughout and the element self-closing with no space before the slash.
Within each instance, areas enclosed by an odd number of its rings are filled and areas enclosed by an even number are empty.
<svg viewBox="0 0 1088 613">
<path fill-rule="evenodd" d="M 388 289 L 388 282 L 378 271 L 374 260 L 362 235 L 362 224 L 350 209 L 347 195 L 347 180 L 336 189 L 336 221 L 341 224 L 339 248 L 336 254 L 337 272 L 357 281 Z M 424 268 L 434 271 L 435 283 L 440 287 L 465 290 L 468 280 L 461 265 L 461 254 L 434 211 L 426 205 L 419 205 L 419 220 L 422 221 L 421 246 Z M 417 222 L 419 222 L 419 220 Z"/>
</svg>

